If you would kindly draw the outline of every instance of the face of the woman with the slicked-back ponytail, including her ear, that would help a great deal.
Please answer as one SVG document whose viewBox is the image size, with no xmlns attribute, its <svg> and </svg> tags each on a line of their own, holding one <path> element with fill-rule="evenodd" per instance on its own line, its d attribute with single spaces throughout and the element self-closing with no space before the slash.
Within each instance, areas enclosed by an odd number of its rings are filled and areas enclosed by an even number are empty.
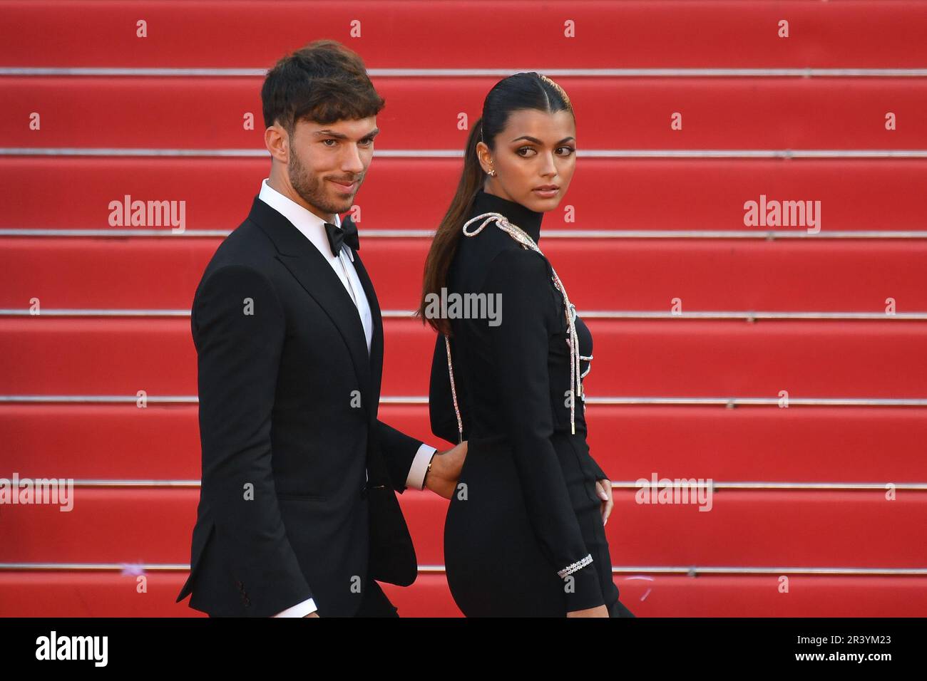
<svg viewBox="0 0 927 681">
<path fill-rule="evenodd" d="M 496 150 L 483 142 L 476 154 L 486 176 L 484 191 L 545 212 L 557 208 L 576 169 L 576 123 L 569 111 L 514 111 L 496 135 Z M 549 186 L 551 191 L 543 191 Z M 539 189 L 541 188 L 541 189 Z"/>
</svg>

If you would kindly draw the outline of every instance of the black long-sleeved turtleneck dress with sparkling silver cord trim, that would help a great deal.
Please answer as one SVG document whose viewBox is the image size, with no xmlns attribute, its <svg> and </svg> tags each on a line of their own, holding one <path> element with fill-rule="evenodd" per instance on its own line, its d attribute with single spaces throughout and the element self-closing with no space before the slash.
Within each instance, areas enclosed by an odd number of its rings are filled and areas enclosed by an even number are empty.
<svg viewBox="0 0 927 681">
<path fill-rule="evenodd" d="M 539 243 L 543 213 L 480 190 L 464 221 L 488 212 L 501 213 Z M 475 236 L 461 234 L 446 285 L 449 295 L 499 294 L 502 303 L 498 324 L 450 320 L 454 386 L 468 440 L 444 527 L 454 601 L 468 617 L 563 617 L 603 604 L 613 617 L 633 617 L 612 578 L 595 486 L 608 476 L 590 456 L 581 398 L 576 435 L 570 433 L 569 332 L 550 263 L 490 222 Z M 575 323 L 579 353 L 591 357 L 589 329 L 578 316 Z M 582 360 L 580 372 L 589 365 Z M 441 334 L 428 404 L 434 434 L 457 442 Z M 567 576 L 558 574 L 565 570 Z"/>
</svg>

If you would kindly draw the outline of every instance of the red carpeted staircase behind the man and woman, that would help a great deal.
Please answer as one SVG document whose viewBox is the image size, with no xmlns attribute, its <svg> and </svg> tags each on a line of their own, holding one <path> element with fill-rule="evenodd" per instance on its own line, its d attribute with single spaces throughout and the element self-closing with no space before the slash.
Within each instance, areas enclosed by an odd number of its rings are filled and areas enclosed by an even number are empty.
<svg viewBox="0 0 927 681">
<path fill-rule="evenodd" d="M 190 304 L 270 168 L 262 73 L 319 38 L 387 101 L 357 197 L 381 419 L 448 446 L 428 428 L 434 336 L 408 312 L 460 114 L 539 70 L 576 109 L 577 174 L 540 246 L 595 339 L 622 600 L 927 615 L 925 34 L 908 0 L 0 0 L 0 478 L 75 484 L 68 512 L 0 505 L 0 616 L 201 614 L 174 603 L 200 473 Z M 183 201 L 183 231 L 111 224 L 127 195 Z M 761 200 L 819 201 L 819 231 L 745 225 Z M 707 481 L 711 510 L 639 503 L 653 476 Z M 459 616 L 448 502 L 400 503 L 420 574 L 388 596 Z"/>
</svg>

